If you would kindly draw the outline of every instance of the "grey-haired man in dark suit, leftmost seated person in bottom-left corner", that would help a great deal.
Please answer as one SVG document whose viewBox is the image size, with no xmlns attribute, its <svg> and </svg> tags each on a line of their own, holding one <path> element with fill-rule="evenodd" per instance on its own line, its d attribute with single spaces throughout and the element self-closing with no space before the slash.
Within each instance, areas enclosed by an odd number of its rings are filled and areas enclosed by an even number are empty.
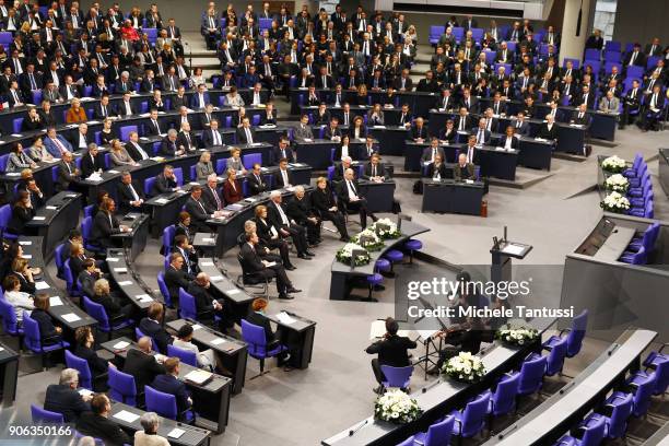
<svg viewBox="0 0 669 446">
<path fill-rule="evenodd" d="M 89 401 L 92 398 L 90 395 L 81 396 L 77 391 L 78 387 L 79 372 L 74 368 L 63 368 L 60 372 L 58 384 L 51 384 L 47 387 L 44 409 L 62 413 L 66 423 L 77 421 L 83 412 L 91 410 Z"/>
</svg>

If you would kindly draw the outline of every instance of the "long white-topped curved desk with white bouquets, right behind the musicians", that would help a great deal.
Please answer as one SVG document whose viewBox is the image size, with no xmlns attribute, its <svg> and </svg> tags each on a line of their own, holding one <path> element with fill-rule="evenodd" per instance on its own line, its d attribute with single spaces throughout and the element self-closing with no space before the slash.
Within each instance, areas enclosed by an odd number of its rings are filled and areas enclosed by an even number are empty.
<svg viewBox="0 0 669 446">
<path fill-rule="evenodd" d="M 402 224 L 403 226 L 403 224 Z M 540 333 L 548 330 L 554 319 L 535 319 L 529 325 Z M 527 322 L 523 322 L 527 325 Z M 503 374 L 516 367 L 531 351 L 539 350 L 540 342 L 519 347 L 510 347 L 495 341 L 481 356 L 488 374 L 476 384 L 462 384 L 449 378 L 439 378 L 429 384 L 424 389 L 411 394 L 418 400 L 423 414 L 408 424 L 394 424 L 375 420 L 369 416 L 350 429 L 338 433 L 321 442 L 324 446 L 361 446 L 361 445 L 396 445 L 416 432 L 425 432 L 434 422 L 448 414 L 453 409 L 467 403 L 470 398 L 489 389 Z"/>
</svg>

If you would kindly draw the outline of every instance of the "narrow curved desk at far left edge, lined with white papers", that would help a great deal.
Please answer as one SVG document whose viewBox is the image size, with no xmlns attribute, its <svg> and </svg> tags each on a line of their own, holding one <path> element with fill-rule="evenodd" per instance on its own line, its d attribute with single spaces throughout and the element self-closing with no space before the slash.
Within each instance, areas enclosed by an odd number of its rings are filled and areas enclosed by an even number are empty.
<svg viewBox="0 0 669 446">
<path fill-rule="evenodd" d="M 44 251 L 43 238 L 21 236 L 19 243 L 23 247 L 24 257 L 30 260 L 31 266 L 40 268 L 40 279 L 35 280 L 37 293 L 47 293 L 50 297 L 49 315 L 63 328 L 67 340 L 74 339 L 74 331 L 79 327 L 95 326 L 97 320 L 89 316 L 83 309 L 74 305 L 67 293 L 60 290 L 46 269 L 46 262 L 42 253 Z"/>
</svg>

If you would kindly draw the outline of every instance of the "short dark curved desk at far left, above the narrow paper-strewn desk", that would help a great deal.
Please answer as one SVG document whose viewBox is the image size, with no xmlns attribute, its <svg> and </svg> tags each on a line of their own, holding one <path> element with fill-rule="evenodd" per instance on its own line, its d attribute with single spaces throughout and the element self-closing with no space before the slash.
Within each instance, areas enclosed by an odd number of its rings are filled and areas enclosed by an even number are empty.
<svg viewBox="0 0 669 446">
<path fill-rule="evenodd" d="M 25 224 L 26 233 L 43 238 L 42 255 L 48 261 L 54 249 L 68 236 L 70 230 L 79 226 L 82 209 L 81 193 L 59 192 L 49 198 L 45 206 L 37 209 L 33 220 Z"/>
</svg>

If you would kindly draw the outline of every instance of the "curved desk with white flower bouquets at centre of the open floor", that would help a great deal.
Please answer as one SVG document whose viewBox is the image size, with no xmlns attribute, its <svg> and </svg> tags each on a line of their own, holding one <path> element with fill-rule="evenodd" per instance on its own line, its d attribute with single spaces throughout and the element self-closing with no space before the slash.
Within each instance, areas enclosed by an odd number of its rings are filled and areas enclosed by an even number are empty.
<svg viewBox="0 0 669 446">
<path fill-rule="evenodd" d="M 351 287 L 357 279 L 366 278 L 367 275 L 374 274 L 374 268 L 376 260 L 382 258 L 386 251 L 395 248 L 398 245 L 402 245 L 409 238 L 414 237 L 419 234 L 426 233 L 430 231 L 429 227 L 410 221 L 402 221 L 401 227 L 399 227 L 402 235 L 399 238 L 389 238 L 384 240 L 384 247 L 379 250 L 369 251 L 369 262 L 360 267 L 351 267 L 344 265 L 337 259 L 332 260 L 331 279 L 330 279 L 330 300 L 331 301 L 345 301 L 350 293 Z"/>
</svg>

